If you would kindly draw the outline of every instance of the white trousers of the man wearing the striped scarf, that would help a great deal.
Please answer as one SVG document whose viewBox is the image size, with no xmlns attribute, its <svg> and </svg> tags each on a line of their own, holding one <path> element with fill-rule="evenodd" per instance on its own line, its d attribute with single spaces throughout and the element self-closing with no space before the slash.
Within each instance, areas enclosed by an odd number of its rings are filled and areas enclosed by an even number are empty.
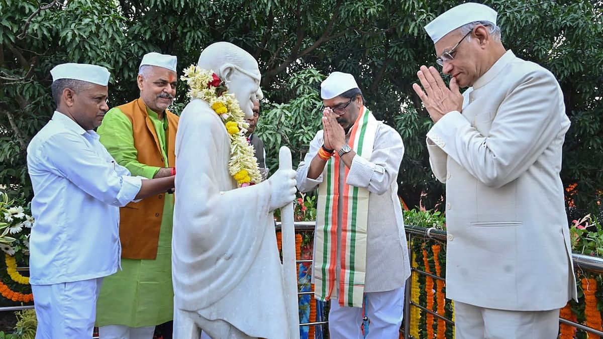
<svg viewBox="0 0 603 339">
<path fill-rule="evenodd" d="M 404 315 L 404 287 L 385 292 L 365 293 L 368 325 L 367 339 L 397 339 Z M 329 337 L 331 339 L 362 339 L 362 308 L 341 307 L 331 301 Z"/>
</svg>

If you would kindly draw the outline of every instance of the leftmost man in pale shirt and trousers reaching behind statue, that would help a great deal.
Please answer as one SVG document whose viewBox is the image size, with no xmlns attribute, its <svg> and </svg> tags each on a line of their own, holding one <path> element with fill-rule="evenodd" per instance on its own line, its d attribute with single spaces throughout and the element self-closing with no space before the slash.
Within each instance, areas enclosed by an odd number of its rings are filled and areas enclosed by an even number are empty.
<svg viewBox="0 0 603 339">
<path fill-rule="evenodd" d="M 119 267 L 119 206 L 173 188 L 174 177 L 131 177 L 98 141 L 107 69 L 65 63 L 51 74 L 57 109 L 27 148 L 36 338 L 92 338 L 103 277 Z"/>
</svg>

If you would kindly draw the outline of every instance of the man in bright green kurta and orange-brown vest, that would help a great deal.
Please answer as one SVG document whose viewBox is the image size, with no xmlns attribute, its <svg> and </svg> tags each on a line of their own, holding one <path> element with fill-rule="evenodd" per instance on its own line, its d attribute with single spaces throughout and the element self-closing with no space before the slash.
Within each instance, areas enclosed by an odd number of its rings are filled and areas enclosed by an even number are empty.
<svg viewBox="0 0 603 339">
<path fill-rule="evenodd" d="M 178 116 L 174 55 L 150 52 L 136 78 L 140 97 L 107 112 L 101 144 L 119 165 L 148 179 L 175 174 Z M 155 326 L 174 316 L 171 242 L 174 195 L 157 194 L 119 210 L 122 271 L 105 279 L 96 326 L 103 339 L 153 339 Z M 115 308 L 115 305 L 121 305 Z"/>
</svg>

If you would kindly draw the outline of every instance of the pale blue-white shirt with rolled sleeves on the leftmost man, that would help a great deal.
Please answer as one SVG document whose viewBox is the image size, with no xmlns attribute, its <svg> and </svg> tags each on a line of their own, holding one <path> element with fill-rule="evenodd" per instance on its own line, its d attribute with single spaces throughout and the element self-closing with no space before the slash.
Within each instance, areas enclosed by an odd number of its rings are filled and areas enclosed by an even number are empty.
<svg viewBox="0 0 603 339">
<path fill-rule="evenodd" d="M 30 283 L 50 285 L 108 276 L 118 270 L 119 206 L 140 178 L 119 166 L 98 141 L 55 112 L 27 147 L 34 189 Z"/>
</svg>

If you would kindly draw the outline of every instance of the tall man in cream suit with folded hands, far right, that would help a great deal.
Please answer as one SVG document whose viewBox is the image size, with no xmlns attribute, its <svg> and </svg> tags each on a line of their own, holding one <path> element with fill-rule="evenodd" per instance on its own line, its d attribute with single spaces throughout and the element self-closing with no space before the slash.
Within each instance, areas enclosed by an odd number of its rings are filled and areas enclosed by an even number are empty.
<svg viewBox="0 0 603 339">
<path fill-rule="evenodd" d="M 426 25 L 447 87 L 421 66 L 414 90 L 435 122 L 432 171 L 446 183 L 446 297 L 456 338 L 557 338 L 576 299 L 559 176 L 569 128 L 554 75 L 500 42 L 496 11 L 459 5 Z M 462 95 L 459 87 L 470 86 Z"/>
</svg>

